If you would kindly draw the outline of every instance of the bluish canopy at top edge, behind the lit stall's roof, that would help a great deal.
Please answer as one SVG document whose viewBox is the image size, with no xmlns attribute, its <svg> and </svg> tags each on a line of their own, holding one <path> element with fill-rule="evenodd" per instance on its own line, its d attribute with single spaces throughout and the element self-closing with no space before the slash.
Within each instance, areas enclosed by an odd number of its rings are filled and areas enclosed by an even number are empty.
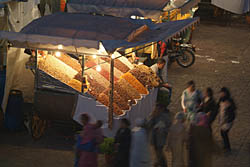
<svg viewBox="0 0 250 167">
<path fill-rule="evenodd" d="M 178 4 L 176 8 L 184 7 L 185 4 L 189 2 L 192 2 L 192 5 L 198 3 L 198 0 L 172 1 Z M 97 13 L 128 18 L 131 16 L 140 16 L 159 20 L 164 8 L 171 3 L 171 0 L 69 0 L 67 3 L 67 10 L 70 13 Z M 186 7 L 187 6 L 185 6 L 185 9 Z M 190 7 L 190 4 L 188 7 Z"/>
</svg>

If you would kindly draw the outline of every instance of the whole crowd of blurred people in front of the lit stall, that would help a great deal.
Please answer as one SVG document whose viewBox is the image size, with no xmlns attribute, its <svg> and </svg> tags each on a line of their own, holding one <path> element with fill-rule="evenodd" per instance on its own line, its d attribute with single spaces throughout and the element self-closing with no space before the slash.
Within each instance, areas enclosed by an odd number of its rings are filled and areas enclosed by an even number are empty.
<svg viewBox="0 0 250 167">
<path fill-rule="evenodd" d="M 236 117 L 236 105 L 228 88 L 219 92 L 204 93 L 196 89 L 194 81 L 187 83 L 181 97 L 183 111 L 171 120 L 170 111 L 157 105 L 145 120 L 137 119 L 135 127 L 121 119 L 115 135 L 112 167 L 211 167 L 212 155 L 221 152 L 213 140 L 212 124 L 218 117 L 225 152 L 231 151 L 228 133 Z M 82 115 L 83 130 L 78 136 L 76 167 L 97 167 L 97 146 L 103 141 L 102 122 L 89 123 L 90 117 Z M 166 152 L 170 154 L 166 154 Z M 155 158 L 152 158 L 155 155 Z M 171 155 L 171 158 L 167 157 Z"/>
</svg>

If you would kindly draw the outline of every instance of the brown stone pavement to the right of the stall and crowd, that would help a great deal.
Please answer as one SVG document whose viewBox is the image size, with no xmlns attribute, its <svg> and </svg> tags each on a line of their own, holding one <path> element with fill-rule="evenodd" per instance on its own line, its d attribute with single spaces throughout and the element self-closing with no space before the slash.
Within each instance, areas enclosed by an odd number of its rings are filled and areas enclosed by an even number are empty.
<svg viewBox="0 0 250 167">
<path fill-rule="evenodd" d="M 230 132 L 233 151 L 214 157 L 213 166 L 249 167 L 250 29 L 201 25 L 194 34 L 193 43 L 197 46 L 195 65 L 188 69 L 174 65 L 169 70 L 169 80 L 175 87 L 170 111 L 181 111 L 180 96 L 189 80 L 194 80 L 201 90 L 212 87 L 215 96 L 222 86 L 229 87 L 238 107 L 237 119 Z M 213 127 L 214 138 L 222 146 L 217 122 Z"/>
</svg>

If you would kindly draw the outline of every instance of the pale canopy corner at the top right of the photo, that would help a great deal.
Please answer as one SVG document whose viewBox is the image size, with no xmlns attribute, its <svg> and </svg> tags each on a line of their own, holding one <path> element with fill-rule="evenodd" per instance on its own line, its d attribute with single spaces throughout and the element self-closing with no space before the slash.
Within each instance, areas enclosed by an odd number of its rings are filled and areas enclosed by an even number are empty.
<svg viewBox="0 0 250 167">
<path fill-rule="evenodd" d="M 212 4 L 236 14 L 250 11 L 250 0 L 212 0 Z"/>
</svg>

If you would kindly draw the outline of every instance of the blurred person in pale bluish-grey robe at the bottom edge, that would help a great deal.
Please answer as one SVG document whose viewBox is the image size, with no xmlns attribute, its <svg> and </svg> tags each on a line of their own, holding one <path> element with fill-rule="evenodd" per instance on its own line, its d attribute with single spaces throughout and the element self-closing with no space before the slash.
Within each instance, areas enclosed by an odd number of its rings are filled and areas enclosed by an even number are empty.
<svg viewBox="0 0 250 167">
<path fill-rule="evenodd" d="M 145 121 L 137 119 L 135 123 L 136 127 L 132 130 L 130 167 L 152 167 Z"/>
</svg>

